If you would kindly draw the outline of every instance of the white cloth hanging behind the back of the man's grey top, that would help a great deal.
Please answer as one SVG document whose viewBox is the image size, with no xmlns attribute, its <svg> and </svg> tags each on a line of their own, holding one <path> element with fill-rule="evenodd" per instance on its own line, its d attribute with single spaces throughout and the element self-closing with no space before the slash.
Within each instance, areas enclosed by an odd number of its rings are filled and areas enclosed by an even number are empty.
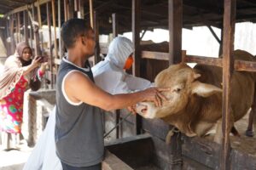
<svg viewBox="0 0 256 170">
<path fill-rule="evenodd" d="M 61 161 L 55 153 L 55 108 L 49 114 L 44 132 L 23 170 L 62 170 Z"/>
</svg>

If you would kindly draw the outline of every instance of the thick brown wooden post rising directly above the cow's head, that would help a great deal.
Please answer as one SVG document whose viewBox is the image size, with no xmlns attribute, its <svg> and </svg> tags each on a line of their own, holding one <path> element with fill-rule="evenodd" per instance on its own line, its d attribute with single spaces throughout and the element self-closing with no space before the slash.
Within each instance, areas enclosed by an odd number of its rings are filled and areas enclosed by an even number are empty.
<svg viewBox="0 0 256 170">
<path fill-rule="evenodd" d="M 169 0 L 169 64 L 181 62 L 182 56 L 182 28 L 183 28 L 183 1 Z"/>
</svg>

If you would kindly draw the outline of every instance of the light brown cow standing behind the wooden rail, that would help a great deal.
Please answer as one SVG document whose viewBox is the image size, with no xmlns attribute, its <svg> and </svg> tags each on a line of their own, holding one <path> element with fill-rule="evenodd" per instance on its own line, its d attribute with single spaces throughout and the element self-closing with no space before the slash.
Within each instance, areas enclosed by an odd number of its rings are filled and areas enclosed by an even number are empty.
<svg viewBox="0 0 256 170">
<path fill-rule="evenodd" d="M 253 61 L 253 55 L 236 50 L 235 59 Z M 155 77 L 159 88 L 170 88 L 164 92 L 167 100 L 161 107 L 142 102 L 137 113 L 144 118 L 160 118 L 177 127 L 189 137 L 204 136 L 217 123 L 214 141 L 222 138 L 222 68 L 212 65 L 170 65 Z M 245 116 L 253 104 L 255 73 L 234 71 L 230 80 L 230 127 Z"/>
</svg>

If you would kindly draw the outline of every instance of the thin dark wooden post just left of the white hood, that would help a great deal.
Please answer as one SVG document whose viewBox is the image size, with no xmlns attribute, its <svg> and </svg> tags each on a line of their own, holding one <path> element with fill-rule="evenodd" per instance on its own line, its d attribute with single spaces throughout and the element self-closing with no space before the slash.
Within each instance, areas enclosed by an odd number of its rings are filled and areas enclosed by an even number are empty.
<svg viewBox="0 0 256 170">
<path fill-rule="evenodd" d="M 96 11 L 94 12 L 94 34 L 95 34 L 95 42 L 96 42 L 96 51 L 94 54 L 95 57 L 95 64 L 100 62 L 102 59 L 100 57 L 100 44 L 99 44 L 99 20 L 97 18 L 97 13 Z"/>
</svg>

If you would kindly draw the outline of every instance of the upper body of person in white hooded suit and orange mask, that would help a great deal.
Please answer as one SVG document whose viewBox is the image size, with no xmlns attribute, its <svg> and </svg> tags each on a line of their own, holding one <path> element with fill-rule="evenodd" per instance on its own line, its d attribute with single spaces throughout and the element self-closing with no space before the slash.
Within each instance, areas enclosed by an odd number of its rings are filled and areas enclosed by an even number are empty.
<svg viewBox="0 0 256 170">
<path fill-rule="evenodd" d="M 106 58 L 91 68 L 96 85 L 109 94 L 128 94 L 151 86 L 151 82 L 125 71 L 133 63 L 134 48 L 130 39 L 115 37 Z"/>
</svg>

